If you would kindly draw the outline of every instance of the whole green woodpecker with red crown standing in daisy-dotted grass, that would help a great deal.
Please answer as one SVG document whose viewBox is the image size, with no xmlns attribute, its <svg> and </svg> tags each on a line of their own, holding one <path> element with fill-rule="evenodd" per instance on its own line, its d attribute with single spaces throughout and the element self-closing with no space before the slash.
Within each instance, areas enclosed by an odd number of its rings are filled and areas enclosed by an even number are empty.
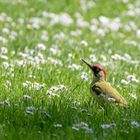
<svg viewBox="0 0 140 140">
<path fill-rule="evenodd" d="M 82 61 L 87 64 L 93 72 L 94 78 L 90 84 L 91 94 L 97 97 L 100 102 L 104 102 L 107 99 L 119 104 L 120 106 L 127 107 L 127 101 L 118 93 L 116 89 L 114 89 L 106 82 L 105 69 L 99 64 L 91 65 L 84 59 L 82 59 Z"/>
</svg>

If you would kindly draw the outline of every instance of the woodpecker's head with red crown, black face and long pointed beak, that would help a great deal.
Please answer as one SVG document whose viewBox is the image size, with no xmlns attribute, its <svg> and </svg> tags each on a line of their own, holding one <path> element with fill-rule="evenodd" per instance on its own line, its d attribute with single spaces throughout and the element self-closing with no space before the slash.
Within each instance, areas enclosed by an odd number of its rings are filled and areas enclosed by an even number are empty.
<svg viewBox="0 0 140 140">
<path fill-rule="evenodd" d="M 88 63 L 87 61 L 85 61 L 84 59 L 81 59 L 81 60 L 90 67 L 90 69 L 92 70 L 92 72 L 96 78 L 106 80 L 106 71 L 101 65 L 99 65 L 99 64 L 92 65 L 92 64 Z"/>
</svg>

